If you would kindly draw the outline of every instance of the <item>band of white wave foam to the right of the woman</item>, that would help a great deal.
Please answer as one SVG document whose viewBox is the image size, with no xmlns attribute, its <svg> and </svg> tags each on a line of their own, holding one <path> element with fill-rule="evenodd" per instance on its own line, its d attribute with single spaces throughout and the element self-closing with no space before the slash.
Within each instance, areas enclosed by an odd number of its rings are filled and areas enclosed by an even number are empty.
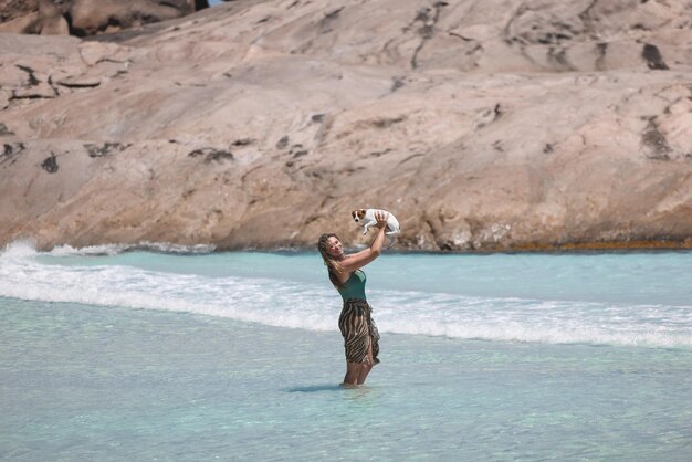
<svg viewBox="0 0 692 462">
<path fill-rule="evenodd" d="M 692 307 L 377 292 L 385 332 L 452 338 L 692 347 Z M 405 307 L 403 309 L 401 307 Z"/>
</svg>

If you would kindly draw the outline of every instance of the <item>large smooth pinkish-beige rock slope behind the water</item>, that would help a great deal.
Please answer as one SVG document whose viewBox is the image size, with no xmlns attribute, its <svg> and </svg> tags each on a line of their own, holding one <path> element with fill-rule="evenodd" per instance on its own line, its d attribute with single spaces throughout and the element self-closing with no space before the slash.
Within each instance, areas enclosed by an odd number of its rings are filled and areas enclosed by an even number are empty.
<svg viewBox="0 0 692 462">
<path fill-rule="evenodd" d="M 2 242 L 690 246 L 692 3 L 234 1 L 0 35 Z"/>
</svg>

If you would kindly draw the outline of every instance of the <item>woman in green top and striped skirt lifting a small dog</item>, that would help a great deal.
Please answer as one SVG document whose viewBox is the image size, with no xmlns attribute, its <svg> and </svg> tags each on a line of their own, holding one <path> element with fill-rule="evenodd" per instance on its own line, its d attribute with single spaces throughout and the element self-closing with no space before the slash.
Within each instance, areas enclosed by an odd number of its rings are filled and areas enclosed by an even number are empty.
<svg viewBox="0 0 692 462">
<path fill-rule="evenodd" d="M 319 237 L 317 249 L 329 273 L 329 281 L 342 294 L 344 308 L 338 318 L 338 327 L 344 336 L 346 349 L 346 377 L 344 386 L 357 386 L 379 359 L 379 334 L 371 317 L 371 308 L 365 297 L 366 264 L 377 259 L 385 241 L 388 213 L 376 212 L 377 235 L 370 246 L 358 253 L 344 254 L 344 245 L 334 233 Z"/>
</svg>

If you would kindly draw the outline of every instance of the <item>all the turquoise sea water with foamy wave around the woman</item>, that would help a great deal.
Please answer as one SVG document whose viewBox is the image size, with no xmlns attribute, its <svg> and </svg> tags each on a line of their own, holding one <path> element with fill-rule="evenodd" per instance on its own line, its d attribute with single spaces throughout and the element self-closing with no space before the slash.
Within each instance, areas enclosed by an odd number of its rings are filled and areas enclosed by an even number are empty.
<svg viewBox="0 0 692 462">
<path fill-rule="evenodd" d="M 692 253 L 0 253 L 0 459 L 692 460 Z"/>
</svg>

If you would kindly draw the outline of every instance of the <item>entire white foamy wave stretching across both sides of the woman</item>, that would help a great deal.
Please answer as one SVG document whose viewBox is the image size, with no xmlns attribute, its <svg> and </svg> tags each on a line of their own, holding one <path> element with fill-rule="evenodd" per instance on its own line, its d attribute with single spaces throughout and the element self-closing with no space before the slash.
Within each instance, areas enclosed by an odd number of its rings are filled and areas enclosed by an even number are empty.
<svg viewBox="0 0 692 462">
<path fill-rule="evenodd" d="M 111 250 L 106 246 L 86 252 L 103 254 Z M 51 254 L 63 255 L 71 250 L 54 252 L 59 253 Z M 13 244 L 0 254 L 0 296 L 190 312 L 311 330 L 337 329 L 340 303 L 327 284 L 315 287 L 286 280 L 171 274 L 114 264 L 43 264 L 38 255 L 25 243 Z M 618 306 L 402 291 L 373 291 L 370 302 L 382 333 L 692 347 L 689 306 Z"/>
</svg>

